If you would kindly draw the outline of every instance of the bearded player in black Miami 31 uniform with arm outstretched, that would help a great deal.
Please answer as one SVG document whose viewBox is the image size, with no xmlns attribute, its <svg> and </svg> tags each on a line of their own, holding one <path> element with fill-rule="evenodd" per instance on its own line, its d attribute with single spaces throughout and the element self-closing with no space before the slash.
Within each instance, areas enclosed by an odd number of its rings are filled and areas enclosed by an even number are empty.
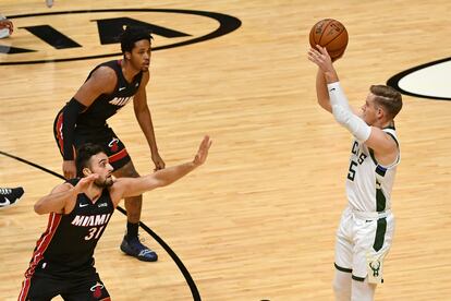
<svg viewBox="0 0 451 301">
<path fill-rule="evenodd" d="M 166 186 L 203 165 L 211 141 L 205 136 L 190 162 L 139 178 L 112 179 L 113 168 L 99 145 L 84 144 L 76 157 L 77 179 L 56 186 L 35 204 L 49 214 L 36 243 L 19 300 L 110 300 L 94 267 L 94 250 L 114 208 L 126 196 Z M 145 299 L 143 297 L 143 299 Z"/>
</svg>

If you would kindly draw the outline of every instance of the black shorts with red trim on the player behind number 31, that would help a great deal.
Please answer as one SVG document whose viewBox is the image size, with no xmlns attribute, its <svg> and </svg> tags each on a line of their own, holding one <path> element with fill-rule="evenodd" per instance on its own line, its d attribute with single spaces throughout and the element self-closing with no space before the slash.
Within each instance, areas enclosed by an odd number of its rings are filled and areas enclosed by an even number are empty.
<svg viewBox="0 0 451 301">
<path fill-rule="evenodd" d="M 60 111 L 54 119 L 53 123 L 53 136 L 57 142 L 57 146 L 60 149 L 61 156 L 63 156 L 63 135 L 62 135 L 62 111 Z M 94 143 L 100 145 L 108 156 L 108 160 L 114 170 L 120 169 L 124 165 L 131 161 L 125 145 L 114 134 L 113 130 L 108 125 L 97 128 L 75 128 L 74 133 L 74 150 L 85 143 Z"/>
</svg>

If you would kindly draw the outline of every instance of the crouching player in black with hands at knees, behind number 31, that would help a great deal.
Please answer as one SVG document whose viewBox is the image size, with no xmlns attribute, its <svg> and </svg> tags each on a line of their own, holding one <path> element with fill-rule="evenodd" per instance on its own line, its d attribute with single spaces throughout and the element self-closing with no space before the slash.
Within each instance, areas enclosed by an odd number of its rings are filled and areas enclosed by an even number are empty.
<svg viewBox="0 0 451 301">
<path fill-rule="evenodd" d="M 107 119 L 132 98 L 135 116 L 149 145 L 155 169 L 164 168 L 164 161 L 158 153 L 146 97 L 150 39 L 148 31 L 126 27 L 121 36 L 123 58 L 96 67 L 75 96 L 57 115 L 53 134 L 63 157 L 62 169 L 66 179 L 75 177 L 74 149 L 87 142 L 103 147 L 114 168 L 114 177 L 139 177 L 125 145 L 107 123 Z M 127 226 L 121 250 L 141 261 L 155 262 L 158 260 L 157 254 L 138 239 L 142 198 L 142 195 L 125 198 Z"/>
</svg>

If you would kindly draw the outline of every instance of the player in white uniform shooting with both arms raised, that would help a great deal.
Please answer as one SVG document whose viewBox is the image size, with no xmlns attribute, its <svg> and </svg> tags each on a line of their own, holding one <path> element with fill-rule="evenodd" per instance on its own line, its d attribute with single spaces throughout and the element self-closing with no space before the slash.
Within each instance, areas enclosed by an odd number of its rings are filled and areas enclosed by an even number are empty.
<svg viewBox="0 0 451 301">
<path fill-rule="evenodd" d="M 348 207 L 336 242 L 336 300 L 373 300 L 382 282 L 383 257 L 394 231 L 391 190 L 400 148 L 394 117 L 402 108 L 401 94 L 373 85 L 361 111 L 348 104 L 326 48 L 310 48 L 308 59 L 318 65 L 318 104 L 354 136 L 346 179 Z"/>
</svg>

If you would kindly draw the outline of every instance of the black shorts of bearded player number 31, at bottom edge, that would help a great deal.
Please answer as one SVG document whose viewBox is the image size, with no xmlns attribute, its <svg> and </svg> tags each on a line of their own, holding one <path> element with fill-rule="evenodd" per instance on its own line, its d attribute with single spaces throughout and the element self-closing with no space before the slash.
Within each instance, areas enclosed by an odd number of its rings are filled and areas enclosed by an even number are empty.
<svg viewBox="0 0 451 301">
<path fill-rule="evenodd" d="M 57 296 L 66 301 L 110 300 L 107 288 L 94 268 L 86 273 L 64 275 L 38 268 L 22 282 L 19 300 L 50 301 Z"/>
</svg>

